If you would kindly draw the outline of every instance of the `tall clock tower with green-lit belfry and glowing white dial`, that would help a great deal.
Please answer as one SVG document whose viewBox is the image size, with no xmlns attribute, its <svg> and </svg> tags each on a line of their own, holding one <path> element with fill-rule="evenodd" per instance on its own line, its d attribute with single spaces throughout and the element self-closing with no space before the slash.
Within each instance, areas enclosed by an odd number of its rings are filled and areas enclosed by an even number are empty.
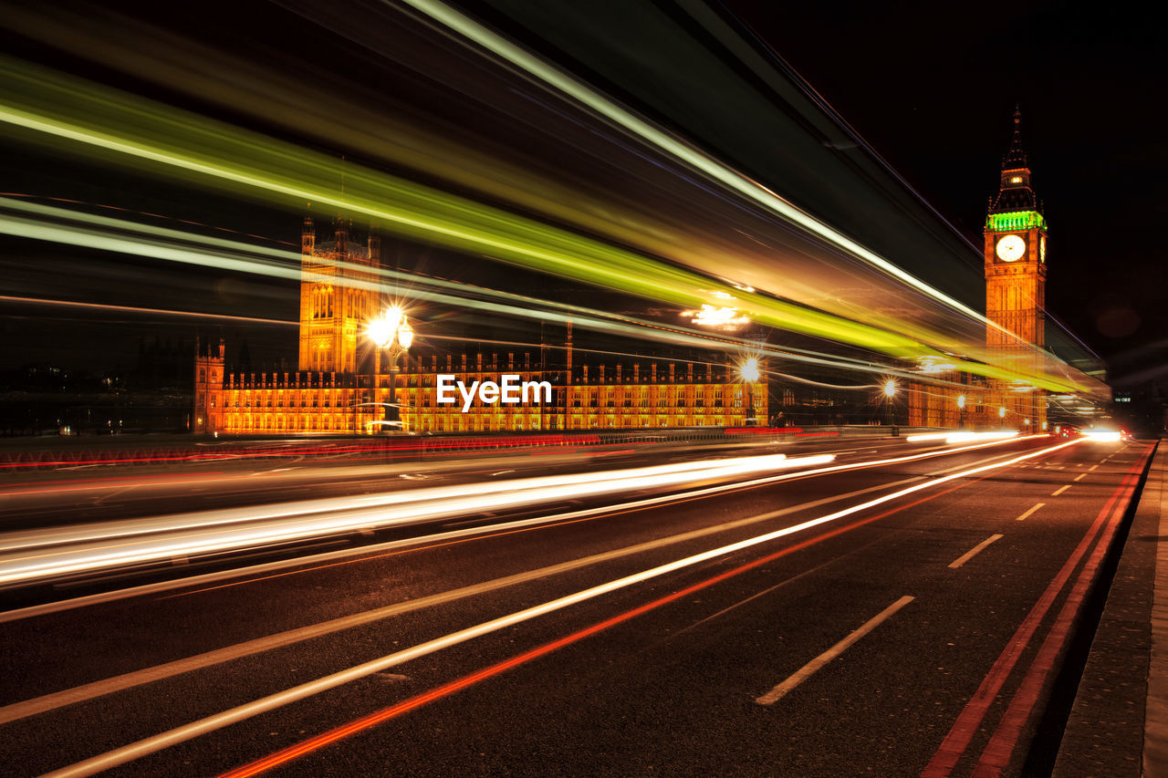
<svg viewBox="0 0 1168 778">
<path fill-rule="evenodd" d="M 1002 158 L 997 197 L 986 217 L 986 346 L 1013 371 L 1035 375 L 1045 343 L 1047 220 L 1030 187 L 1022 150 L 1021 114 L 1014 110 L 1014 140 Z M 997 381 L 990 423 L 996 416 L 1023 433 L 1045 429 L 1044 393 L 1024 381 Z M 1004 409 L 1004 415 L 1000 409 Z"/>
</svg>

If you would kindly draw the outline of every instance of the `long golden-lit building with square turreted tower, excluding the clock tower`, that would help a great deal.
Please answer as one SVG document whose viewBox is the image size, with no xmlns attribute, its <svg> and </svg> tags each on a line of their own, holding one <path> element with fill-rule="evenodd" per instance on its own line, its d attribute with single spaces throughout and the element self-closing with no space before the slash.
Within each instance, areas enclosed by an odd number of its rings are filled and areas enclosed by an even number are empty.
<svg viewBox="0 0 1168 778">
<path fill-rule="evenodd" d="M 363 343 L 366 324 L 380 300 L 364 282 L 380 265 L 380 244 L 349 239 L 341 222 L 332 242 L 318 244 L 311 221 L 301 239 L 300 341 L 297 371 L 230 373 L 225 347 L 200 343 L 195 357 L 196 433 L 363 435 L 381 429 L 385 405 L 399 408 L 408 432 L 496 432 L 609 430 L 676 426 L 741 426 L 767 418 L 765 364 L 746 382 L 732 363 L 708 364 L 665 359 L 575 361 L 571 325 L 563 342 L 536 354 L 452 354 L 416 347 L 402 355 L 401 369 L 378 371 L 362 364 L 373 348 Z M 364 360 L 380 366 L 382 360 Z M 475 398 L 437 402 L 437 376 L 493 381 L 519 375 L 548 381 L 550 403 L 505 405 Z M 392 400 L 391 400 L 392 395 Z"/>
</svg>

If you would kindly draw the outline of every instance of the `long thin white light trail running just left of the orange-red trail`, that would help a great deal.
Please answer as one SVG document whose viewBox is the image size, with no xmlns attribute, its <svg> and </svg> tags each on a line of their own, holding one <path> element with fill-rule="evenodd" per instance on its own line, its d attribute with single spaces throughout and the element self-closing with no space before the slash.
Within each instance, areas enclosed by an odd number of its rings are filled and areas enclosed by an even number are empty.
<svg viewBox="0 0 1168 778">
<path fill-rule="evenodd" d="M 569 607 L 577 603 L 586 602 L 589 599 L 593 599 L 596 597 L 606 595 L 612 591 L 618 591 L 620 589 L 631 586 L 637 583 L 651 581 L 653 578 L 663 576 L 675 570 L 682 570 L 684 568 L 693 567 L 695 564 L 701 564 L 702 562 L 707 562 L 709 560 L 724 557 L 736 551 L 741 551 L 743 549 L 758 546 L 759 543 L 766 543 L 772 540 L 778 540 L 779 537 L 785 537 L 787 535 L 793 535 L 795 533 L 804 532 L 805 529 L 811 529 L 812 527 L 819 527 L 820 525 L 833 522 L 844 516 L 850 516 L 855 513 L 867 510 L 868 508 L 875 507 L 877 505 L 883 505 L 885 502 L 897 500 L 908 494 L 913 494 L 923 489 L 932 488 L 939 484 L 945 484 L 946 481 L 957 480 L 959 478 L 967 478 L 969 475 L 974 475 L 976 473 L 982 473 L 990 470 L 996 470 L 999 467 L 1008 467 L 1010 465 L 1016 465 L 1028 459 L 1034 459 L 1035 457 L 1044 457 L 1049 453 L 1058 451 L 1059 449 L 1073 446 L 1077 445 L 1078 443 L 1080 443 L 1080 440 L 1068 440 L 1066 443 L 1061 443 L 1056 446 L 1051 446 L 1050 449 L 1041 449 L 1038 451 L 1015 457 L 1014 459 L 1007 459 L 1006 461 L 994 463 L 989 465 L 981 465 L 980 467 L 972 467 L 967 471 L 954 473 L 952 475 L 945 475 L 934 480 L 926 480 L 916 484 L 913 486 L 899 489 L 897 492 L 884 494 L 874 500 L 869 500 L 868 502 L 861 502 L 849 508 L 836 510 L 835 513 L 829 513 L 818 519 L 811 519 L 799 525 L 784 527 L 783 529 L 777 529 L 774 532 L 766 533 L 763 535 L 756 535 L 755 537 L 748 537 L 746 540 L 738 541 L 737 543 L 730 543 L 729 546 L 722 546 L 721 548 L 702 551 L 700 554 L 687 556 L 684 558 L 676 560 L 674 562 L 669 562 L 667 564 L 662 564 L 656 568 L 651 568 L 648 570 L 642 570 L 641 572 L 635 572 L 633 575 L 625 576 L 624 578 L 617 578 L 614 581 L 610 581 L 607 583 L 592 586 L 591 589 L 584 589 L 582 591 L 577 591 L 572 595 L 561 597 L 558 599 L 542 603 L 540 605 L 534 605 L 526 610 L 516 611 L 508 616 L 502 616 L 496 619 L 492 619 L 491 621 L 484 621 L 472 627 L 459 630 L 458 632 L 452 632 L 447 635 L 434 638 L 433 640 L 427 640 L 426 642 L 418 644 L 410 648 L 404 648 L 392 654 L 387 654 L 385 657 L 370 660 L 368 662 L 364 662 L 363 665 L 356 665 L 354 667 L 349 667 L 338 673 L 333 673 L 332 675 L 325 675 L 322 678 L 318 678 L 314 681 L 308 681 L 299 686 L 294 686 L 290 689 L 285 689 L 284 692 L 277 692 L 276 694 L 270 694 L 266 697 L 260 697 L 259 700 L 253 700 L 251 702 L 236 706 L 235 708 L 231 708 L 229 710 L 223 710 L 221 713 L 206 716 L 203 718 L 200 718 L 199 721 L 193 721 L 188 724 L 175 727 L 174 729 L 169 729 L 165 732 L 152 735 L 150 737 L 144 737 L 140 741 L 135 741 L 133 743 L 123 745 L 121 748 L 117 748 L 111 751 L 106 751 L 104 753 L 98 753 L 97 756 L 90 757 L 89 759 L 74 763 L 71 765 L 68 765 L 65 767 L 62 767 L 60 770 L 56 770 L 47 774 L 53 776 L 55 778 L 63 778 L 64 776 L 69 777 L 92 776 L 95 773 L 102 772 L 103 770 L 110 770 L 111 767 L 116 767 L 120 764 L 133 762 L 134 759 L 141 758 L 148 753 L 155 753 L 164 749 L 168 749 L 173 745 L 178 745 L 179 743 L 185 743 L 201 735 L 206 735 L 207 732 L 214 732 L 224 727 L 229 727 L 230 724 L 235 724 L 241 721 L 246 721 L 248 718 L 251 718 L 252 716 L 258 716 L 262 713 L 266 713 L 269 710 L 276 710 L 277 708 L 283 708 L 284 706 L 291 704 L 293 702 L 306 700 L 317 694 L 321 694 L 322 692 L 327 692 L 328 689 L 334 689 L 339 686 L 350 683 L 368 675 L 373 675 L 374 673 L 378 673 L 389 667 L 396 667 L 397 665 L 401 665 L 403 662 L 408 662 L 410 660 L 429 655 L 443 648 L 449 648 L 451 646 L 459 645 L 461 642 L 472 640 L 474 638 L 485 634 L 491 634 L 492 632 L 496 632 L 499 630 L 503 630 L 509 626 L 521 624 L 535 617 L 544 616 L 547 613 L 552 613 L 555 611 Z M 908 599 L 909 602 L 912 600 L 911 597 L 909 597 Z"/>
</svg>

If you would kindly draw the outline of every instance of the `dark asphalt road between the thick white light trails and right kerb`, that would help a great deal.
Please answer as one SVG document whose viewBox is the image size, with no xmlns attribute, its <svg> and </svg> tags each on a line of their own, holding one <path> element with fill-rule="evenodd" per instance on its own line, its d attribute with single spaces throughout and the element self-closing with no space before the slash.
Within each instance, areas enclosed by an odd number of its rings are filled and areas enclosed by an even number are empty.
<svg viewBox="0 0 1168 778">
<path fill-rule="evenodd" d="M 296 776 L 1041 771 L 1079 602 L 1150 452 L 1061 444 L 449 522 L 0 614 L 0 774 L 132 743 L 112 774 L 270 755 Z M 839 461 L 922 451 L 876 449 Z"/>
</svg>

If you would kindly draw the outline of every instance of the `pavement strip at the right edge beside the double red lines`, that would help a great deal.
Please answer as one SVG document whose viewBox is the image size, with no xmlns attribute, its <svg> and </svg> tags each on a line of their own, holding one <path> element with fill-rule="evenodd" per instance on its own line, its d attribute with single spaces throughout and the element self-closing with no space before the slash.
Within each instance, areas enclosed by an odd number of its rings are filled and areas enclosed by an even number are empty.
<svg viewBox="0 0 1168 778">
<path fill-rule="evenodd" d="M 1152 460 L 1054 776 L 1168 776 L 1168 442 Z"/>
</svg>

